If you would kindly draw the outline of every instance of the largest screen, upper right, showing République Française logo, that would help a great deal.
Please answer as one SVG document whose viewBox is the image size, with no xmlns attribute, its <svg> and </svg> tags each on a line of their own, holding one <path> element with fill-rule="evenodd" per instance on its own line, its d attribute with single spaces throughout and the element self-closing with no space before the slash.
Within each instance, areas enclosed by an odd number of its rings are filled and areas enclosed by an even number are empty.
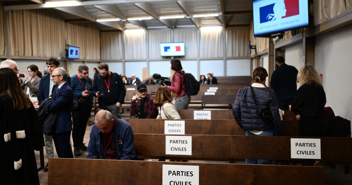
<svg viewBox="0 0 352 185">
<path fill-rule="evenodd" d="M 253 30 L 255 37 L 308 26 L 307 0 L 254 0 Z"/>
</svg>

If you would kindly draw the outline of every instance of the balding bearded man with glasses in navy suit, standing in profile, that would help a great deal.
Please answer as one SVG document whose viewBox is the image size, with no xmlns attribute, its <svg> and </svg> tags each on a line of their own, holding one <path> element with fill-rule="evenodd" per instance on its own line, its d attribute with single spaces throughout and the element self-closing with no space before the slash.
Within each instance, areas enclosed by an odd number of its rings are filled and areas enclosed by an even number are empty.
<svg viewBox="0 0 352 185">
<path fill-rule="evenodd" d="M 66 82 L 67 76 L 66 70 L 62 68 L 54 69 L 51 75 L 51 80 L 55 86 L 49 98 L 54 99 L 54 102 L 50 104 L 48 110 L 57 114 L 56 120 L 54 120 L 55 127 L 52 131 L 52 138 L 59 158 L 73 158 L 70 146 L 73 90 Z"/>
</svg>

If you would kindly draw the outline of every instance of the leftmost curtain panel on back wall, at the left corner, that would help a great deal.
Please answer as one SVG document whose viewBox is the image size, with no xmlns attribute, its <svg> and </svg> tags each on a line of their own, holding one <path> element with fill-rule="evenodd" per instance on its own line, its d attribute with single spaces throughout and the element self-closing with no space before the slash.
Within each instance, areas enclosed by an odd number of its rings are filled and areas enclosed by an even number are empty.
<svg viewBox="0 0 352 185">
<path fill-rule="evenodd" d="M 101 32 L 101 60 L 122 60 L 122 32 Z"/>
</svg>

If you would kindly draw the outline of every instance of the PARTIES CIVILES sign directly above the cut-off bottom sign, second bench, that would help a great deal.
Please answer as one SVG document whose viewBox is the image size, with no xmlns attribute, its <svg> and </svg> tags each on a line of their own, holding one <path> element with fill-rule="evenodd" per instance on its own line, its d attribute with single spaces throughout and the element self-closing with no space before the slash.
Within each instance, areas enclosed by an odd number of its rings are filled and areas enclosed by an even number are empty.
<svg viewBox="0 0 352 185">
<path fill-rule="evenodd" d="M 166 155 L 192 155 L 192 136 L 165 136 Z"/>
</svg>

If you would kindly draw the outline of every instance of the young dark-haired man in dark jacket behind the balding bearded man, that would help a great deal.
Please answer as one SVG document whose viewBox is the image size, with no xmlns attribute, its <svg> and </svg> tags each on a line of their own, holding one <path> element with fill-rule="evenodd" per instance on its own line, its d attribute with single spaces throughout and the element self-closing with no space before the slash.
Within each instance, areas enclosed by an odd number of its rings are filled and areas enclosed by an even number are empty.
<svg viewBox="0 0 352 185">
<path fill-rule="evenodd" d="M 51 80 L 52 71 L 55 68 L 60 67 L 60 61 L 57 58 L 49 58 L 46 61 L 46 67 L 48 67 L 48 75 L 45 75 L 40 79 L 39 90 L 38 90 L 38 101 L 39 104 L 42 103 L 45 99 L 49 98 L 51 95 L 52 89 L 54 88 L 54 82 Z M 68 76 L 67 83 L 71 84 L 70 77 Z M 46 156 L 49 158 L 54 157 L 54 144 L 52 143 L 52 136 L 44 135 L 45 141 L 45 151 Z M 48 171 L 48 163 L 46 164 L 44 171 Z"/>
</svg>

